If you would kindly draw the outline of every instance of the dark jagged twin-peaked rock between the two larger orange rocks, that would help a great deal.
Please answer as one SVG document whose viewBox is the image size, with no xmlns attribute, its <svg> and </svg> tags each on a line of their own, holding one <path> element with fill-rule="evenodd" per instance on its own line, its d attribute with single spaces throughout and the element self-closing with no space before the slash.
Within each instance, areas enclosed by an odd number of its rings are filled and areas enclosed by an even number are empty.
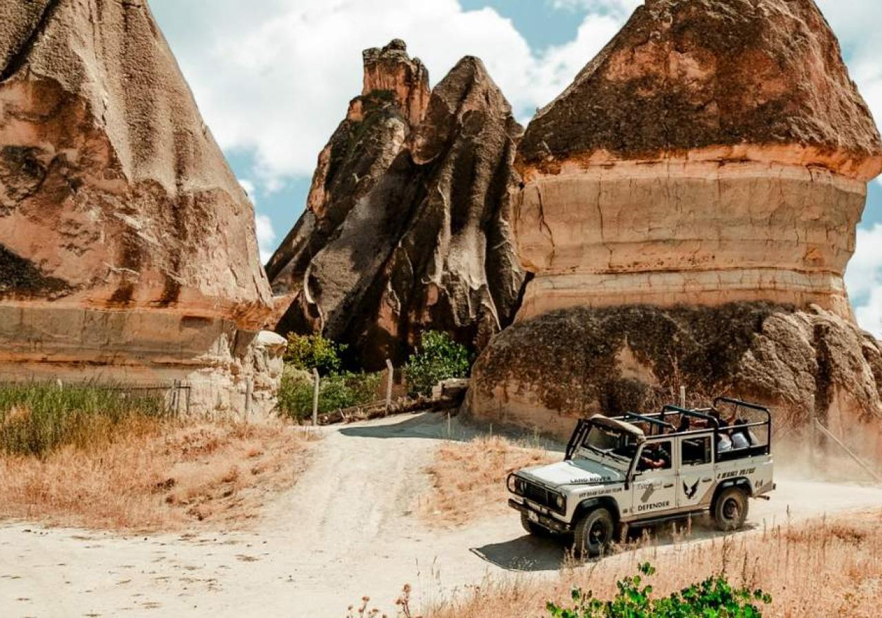
<svg viewBox="0 0 882 618">
<path fill-rule="evenodd" d="M 267 264 L 280 332 L 400 362 L 424 328 L 482 347 L 517 308 L 509 192 L 520 127 L 480 60 L 433 91 L 402 41 L 364 52 L 363 93 L 318 156 L 307 209 Z"/>
</svg>

